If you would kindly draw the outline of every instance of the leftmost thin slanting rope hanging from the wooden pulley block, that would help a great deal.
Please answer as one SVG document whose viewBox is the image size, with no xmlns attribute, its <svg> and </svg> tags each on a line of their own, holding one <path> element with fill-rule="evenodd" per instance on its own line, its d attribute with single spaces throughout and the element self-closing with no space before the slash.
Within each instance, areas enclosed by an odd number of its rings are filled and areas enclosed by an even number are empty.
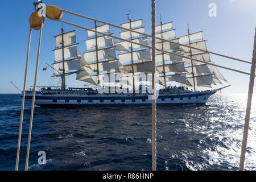
<svg viewBox="0 0 256 182">
<path fill-rule="evenodd" d="M 20 139 L 21 139 L 21 134 L 22 134 L 24 102 L 25 102 L 26 84 L 27 84 L 28 58 L 29 58 L 29 55 L 30 55 L 31 32 L 32 32 L 32 28 L 30 27 L 30 34 L 29 34 L 29 36 L 28 36 L 27 61 L 26 61 L 26 69 L 25 69 L 25 76 L 24 76 L 23 96 L 22 96 L 22 109 L 21 109 L 21 111 L 20 111 L 19 137 L 18 137 L 18 147 L 17 147 L 17 154 L 16 154 L 16 166 L 15 166 L 15 171 L 18 171 L 18 169 L 19 169 L 19 150 L 20 150 Z"/>
</svg>

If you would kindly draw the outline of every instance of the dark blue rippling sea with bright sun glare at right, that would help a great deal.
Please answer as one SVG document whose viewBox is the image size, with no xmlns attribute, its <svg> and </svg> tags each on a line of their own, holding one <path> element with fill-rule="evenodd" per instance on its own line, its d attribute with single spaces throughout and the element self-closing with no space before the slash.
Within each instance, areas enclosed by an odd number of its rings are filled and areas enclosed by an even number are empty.
<svg viewBox="0 0 256 182">
<path fill-rule="evenodd" d="M 215 94 L 204 106 L 158 107 L 158 170 L 237 170 L 246 94 Z M 253 100 L 246 170 L 256 170 Z M 22 99 L 0 94 L 0 170 L 14 170 Z M 24 169 L 31 104 L 25 104 Z M 38 152 L 46 164 L 38 164 Z M 151 170 L 151 107 L 35 107 L 29 170 Z"/>
</svg>

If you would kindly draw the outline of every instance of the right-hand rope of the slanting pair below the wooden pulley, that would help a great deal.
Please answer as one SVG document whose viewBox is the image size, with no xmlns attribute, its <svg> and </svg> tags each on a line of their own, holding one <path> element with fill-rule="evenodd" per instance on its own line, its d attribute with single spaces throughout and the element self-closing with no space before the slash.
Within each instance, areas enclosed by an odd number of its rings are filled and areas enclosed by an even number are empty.
<svg viewBox="0 0 256 182">
<path fill-rule="evenodd" d="M 34 90 L 33 90 L 33 97 L 32 97 L 32 106 L 31 106 L 31 115 L 30 115 L 30 130 L 28 133 L 27 157 L 26 157 L 25 171 L 27 171 L 27 168 L 28 168 L 28 158 L 30 155 L 30 141 L 31 141 L 32 122 L 33 122 L 33 115 L 34 115 L 34 106 L 35 106 L 36 80 L 38 77 L 38 64 L 39 64 L 39 55 L 40 55 L 40 47 L 41 47 L 42 30 L 43 30 L 43 23 L 42 23 L 41 29 L 40 29 L 39 45 L 38 45 L 38 58 L 36 60 L 35 82 L 34 82 Z"/>
</svg>

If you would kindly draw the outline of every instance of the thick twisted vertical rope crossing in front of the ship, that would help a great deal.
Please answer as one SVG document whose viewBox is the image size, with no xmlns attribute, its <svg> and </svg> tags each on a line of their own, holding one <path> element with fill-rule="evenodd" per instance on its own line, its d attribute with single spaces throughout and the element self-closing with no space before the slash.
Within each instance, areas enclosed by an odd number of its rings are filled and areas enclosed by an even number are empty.
<svg viewBox="0 0 256 182">
<path fill-rule="evenodd" d="M 152 171 L 156 171 L 155 0 L 152 9 Z"/>
</svg>

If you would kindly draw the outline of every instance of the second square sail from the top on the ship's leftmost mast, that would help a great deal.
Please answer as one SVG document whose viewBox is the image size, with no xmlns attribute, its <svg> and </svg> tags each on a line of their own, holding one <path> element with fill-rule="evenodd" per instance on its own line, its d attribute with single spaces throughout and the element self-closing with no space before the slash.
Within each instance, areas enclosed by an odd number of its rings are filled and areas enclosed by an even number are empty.
<svg viewBox="0 0 256 182">
<path fill-rule="evenodd" d="M 63 60 L 62 54 L 63 54 L 62 48 L 56 49 L 54 51 L 55 62 L 59 60 Z M 64 48 L 64 59 L 68 59 L 69 57 L 76 57 L 76 56 L 77 56 L 76 45 Z"/>
</svg>

